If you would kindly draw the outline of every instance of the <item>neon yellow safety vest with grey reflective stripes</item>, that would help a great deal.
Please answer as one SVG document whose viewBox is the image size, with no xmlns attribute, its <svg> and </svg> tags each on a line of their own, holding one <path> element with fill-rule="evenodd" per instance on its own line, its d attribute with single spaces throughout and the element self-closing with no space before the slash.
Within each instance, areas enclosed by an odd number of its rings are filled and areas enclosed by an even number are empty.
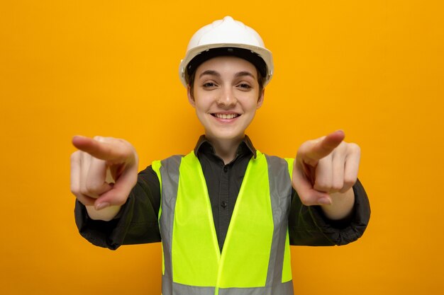
<svg viewBox="0 0 444 295">
<path fill-rule="evenodd" d="M 160 180 L 162 294 L 293 294 L 288 215 L 292 159 L 248 163 L 222 253 L 194 152 L 155 161 Z"/>
</svg>

